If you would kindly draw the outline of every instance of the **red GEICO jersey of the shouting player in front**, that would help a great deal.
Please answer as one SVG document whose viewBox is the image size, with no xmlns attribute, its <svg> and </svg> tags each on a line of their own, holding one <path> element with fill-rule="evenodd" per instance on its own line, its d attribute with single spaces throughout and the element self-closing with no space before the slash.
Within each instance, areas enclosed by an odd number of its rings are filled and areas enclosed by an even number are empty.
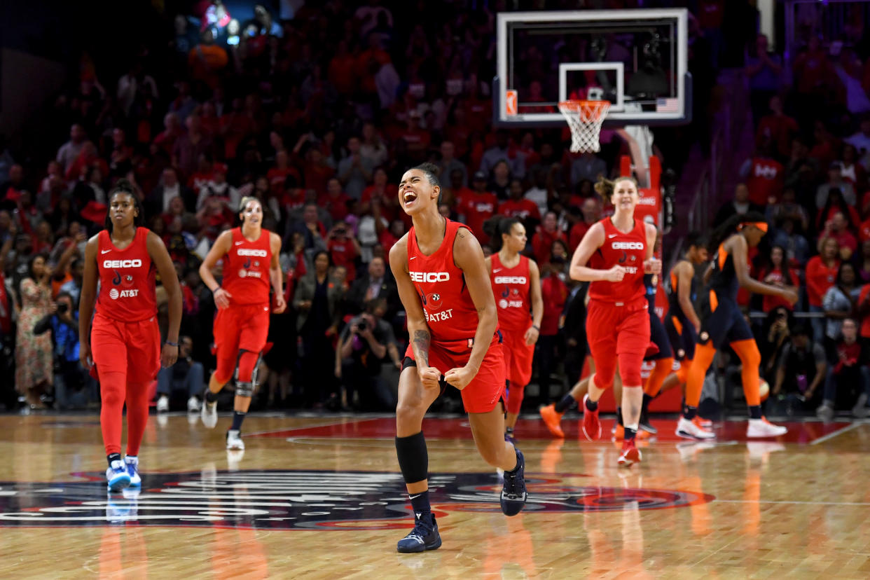
<svg viewBox="0 0 870 580">
<path fill-rule="evenodd" d="M 432 343 L 471 340 L 478 330 L 478 310 L 465 285 L 465 274 L 453 263 L 459 228 L 468 230 L 447 220 L 444 240 L 432 256 L 420 251 L 414 228 L 408 232 L 408 274 L 423 305 Z"/>
</svg>

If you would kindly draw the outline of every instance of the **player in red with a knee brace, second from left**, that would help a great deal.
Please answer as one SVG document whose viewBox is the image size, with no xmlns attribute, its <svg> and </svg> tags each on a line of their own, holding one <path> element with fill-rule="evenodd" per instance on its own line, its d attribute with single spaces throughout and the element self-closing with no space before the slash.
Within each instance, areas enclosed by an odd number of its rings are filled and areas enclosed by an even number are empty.
<svg viewBox="0 0 870 580">
<path fill-rule="evenodd" d="M 243 197 L 238 208 L 240 226 L 224 231 L 199 266 L 199 276 L 214 296 L 215 357 L 218 368 L 205 390 L 202 419 L 209 429 L 218 424 L 218 392 L 230 379 L 236 383 L 227 450 L 244 450 L 242 421 L 257 389 L 257 368 L 269 336 L 269 290 L 275 291 L 276 314 L 284 312 L 283 273 L 278 257 L 281 237 L 263 229 L 263 204 Z M 211 274 L 224 261 L 224 279 Z"/>
</svg>

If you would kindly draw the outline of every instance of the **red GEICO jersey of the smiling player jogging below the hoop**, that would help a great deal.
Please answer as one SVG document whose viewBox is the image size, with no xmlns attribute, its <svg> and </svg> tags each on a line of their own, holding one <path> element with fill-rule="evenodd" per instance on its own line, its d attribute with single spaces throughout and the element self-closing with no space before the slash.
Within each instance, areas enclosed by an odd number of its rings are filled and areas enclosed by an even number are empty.
<svg viewBox="0 0 870 580">
<path fill-rule="evenodd" d="M 623 266 L 626 276 L 620 282 L 597 280 L 589 284 L 589 297 L 609 303 L 632 303 L 646 301 L 644 287 L 644 260 L 646 260 L 646 223 L 634 220 L 634 228 L 627 234 L 616 229 L 610 217 L 600 222 L 604 225 L 604 243 L 592 254 L 589 267 L 610 270 Z"/>
</svg>

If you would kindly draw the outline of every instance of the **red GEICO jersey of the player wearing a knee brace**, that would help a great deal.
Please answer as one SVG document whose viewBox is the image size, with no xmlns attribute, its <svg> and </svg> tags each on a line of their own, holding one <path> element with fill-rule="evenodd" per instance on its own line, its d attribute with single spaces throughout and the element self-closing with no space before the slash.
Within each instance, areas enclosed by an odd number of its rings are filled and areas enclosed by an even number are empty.
<svg viewBox="0 0 870 580">
<path fill-rule="evenodd" d="M 260 230 L 260 237 L 253 242 L 244 238 L 241 228 L 233 228 L 231 234 L 221 286 L 230 293 L 232 304 L 269 303 L 271 232 Z"/>
</svg>

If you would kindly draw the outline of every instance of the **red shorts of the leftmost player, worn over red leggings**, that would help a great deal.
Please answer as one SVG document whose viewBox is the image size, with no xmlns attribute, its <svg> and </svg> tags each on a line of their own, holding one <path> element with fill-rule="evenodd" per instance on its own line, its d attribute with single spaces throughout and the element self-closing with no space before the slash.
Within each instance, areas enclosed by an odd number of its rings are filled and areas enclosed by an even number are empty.
<svg viewBox="0 0 870 580">
<path fill-rule="evenodd" d="M 90 324 L 90 350 L 101 373 L 123 372 L 127 383 L 149 383 L 160 370 L 157 317 L 123 323 L 97 313 Z"/>
</svg>

